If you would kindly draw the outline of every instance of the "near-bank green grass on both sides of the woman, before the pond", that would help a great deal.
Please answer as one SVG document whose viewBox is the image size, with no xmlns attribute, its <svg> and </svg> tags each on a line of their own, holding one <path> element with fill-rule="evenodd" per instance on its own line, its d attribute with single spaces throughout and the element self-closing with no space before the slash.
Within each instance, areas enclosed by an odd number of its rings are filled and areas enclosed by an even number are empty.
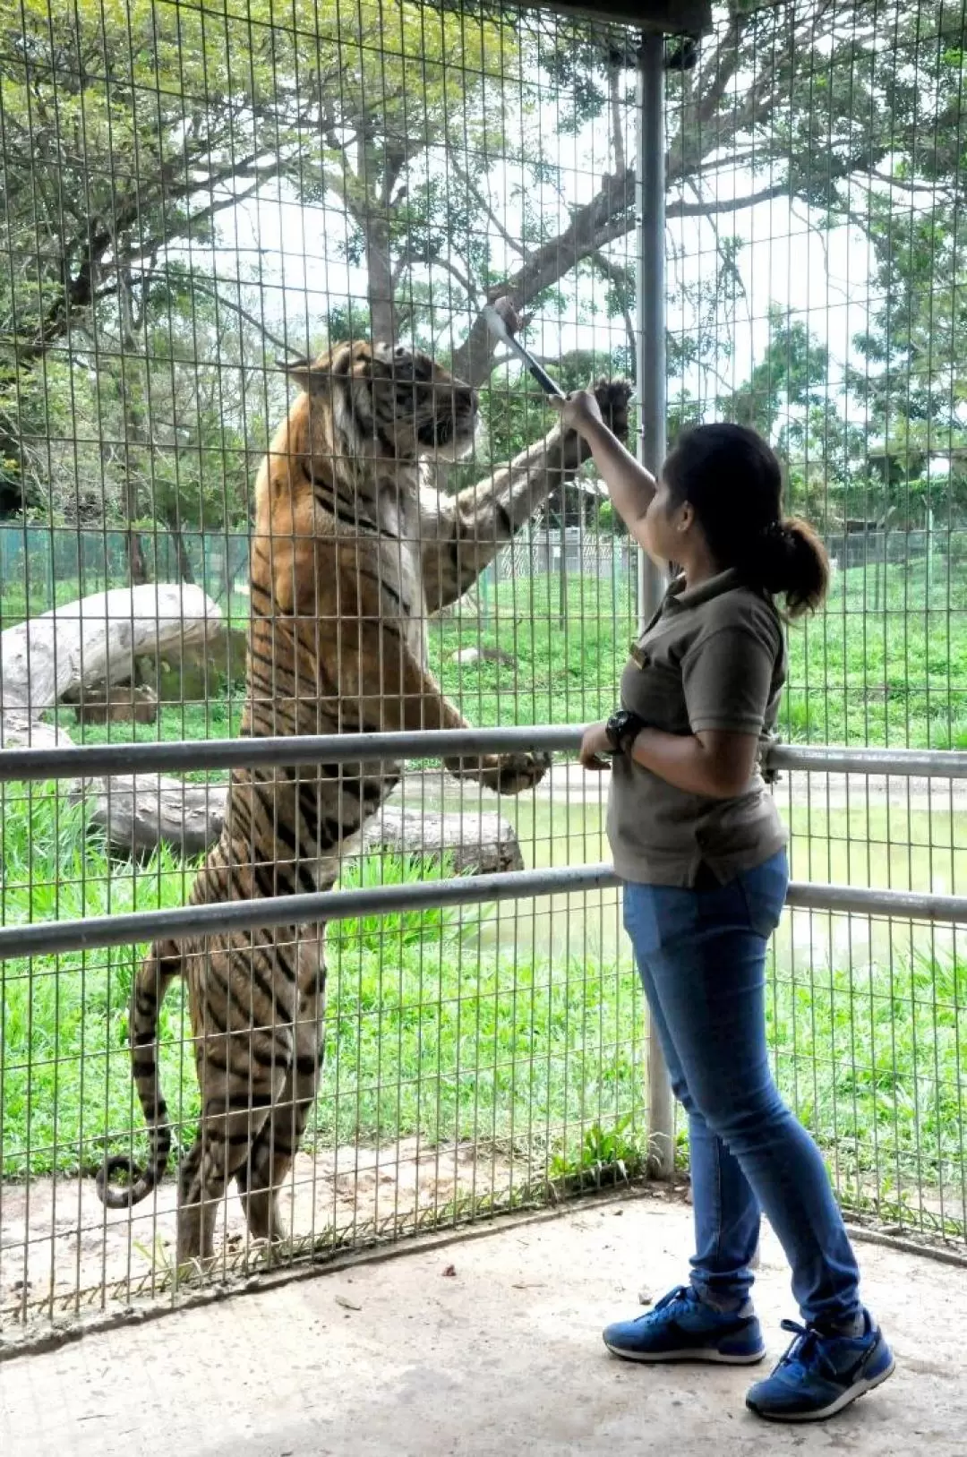
<svg viewBox="0 0 967 1457">
<path fill-rule="evenodd" d="M 137 876 L 84 844 L 52 790 L 7 791 L 0 825 L 7 924 L 182 903 L 185 867 Z M 32 849 L 31 849 L 32 847 Z M 446 867 L 444 867 L 446 871 Z M 418 863 L 366 861 L 366 883 L 427 879 Z M 440 867 L 437 867 L 440 873 Z M 348 881 L 347 881 L 348 883 Z M 358 880 L 357 880 L 358 883 Z M 644 1148 L 642 1005 L 620 960 L 481 949 L 486 909 L 422 911 L 329 928 L 326 1068 L 310 1135 L 323 1145 L 419 1134 L 546 1152 L 556 1173 L 609 1148 Z M 6 1177 L 93 1169 L 143 1152 L 125 1049 L 143 949 L 12 960 L 1 967 L 0 1091 Z M 795 965 L 795 963 L 791 963 Z M 769 1034 L 779 1081 L 840 1187 L 899 1198 L 957 1187 L 967 965 L 941 957 L 795 976 L 779 960 Z M 182 998 L 162 1016 L 165 1091 L 182 1138 L 197 1118 Z M 590 1151 L 588 1151 L 590 1150 Z"/>
</svg>

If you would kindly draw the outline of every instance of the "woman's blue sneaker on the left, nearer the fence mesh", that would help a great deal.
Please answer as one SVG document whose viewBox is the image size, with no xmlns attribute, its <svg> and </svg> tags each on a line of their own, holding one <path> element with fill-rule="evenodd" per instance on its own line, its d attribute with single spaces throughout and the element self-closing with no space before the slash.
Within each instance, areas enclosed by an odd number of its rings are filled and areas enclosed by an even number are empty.
<svg viewBox="0 0 967 1457">
<path fill-rule="evenodd" d="M 626 1361 L 717 1361 L 754 1365 L 766 1348 L 759 1321 L 746 1303 L 744 1314 L 705 1305 L 687 1285 L 679 1285 L 636 1320 L 619 1320 L 604 1330 L 604 1345 Z"/>
</svg>

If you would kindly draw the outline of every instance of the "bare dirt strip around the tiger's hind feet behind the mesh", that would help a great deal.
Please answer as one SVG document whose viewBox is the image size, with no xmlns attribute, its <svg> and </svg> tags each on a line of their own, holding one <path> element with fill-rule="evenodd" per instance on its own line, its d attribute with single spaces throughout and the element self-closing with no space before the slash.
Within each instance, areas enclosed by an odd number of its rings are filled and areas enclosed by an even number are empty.
<svg viewBox="0 0 967 1457">
<path fill-rule="evenodd" d="M 514 1177 L 521 1179 L 521 1161 Z M 296 1236 L 344 1231 L 363 1238 L 368 1230 L 403 1233 L 454 1199 L 483 1199 L 510 1186 L 505 1160 L 486 1157 L 473 1144 L 427 1148 L 408 1138 L 382 1148 L 350 1145 L 300 1154 L 280 1196 Z M 105 1209 L 93 1179 L 33 1179 L 0 1185 L 0 1327 L 70 1316 L 74 1292 L 82 1308 L 127 1304 L 165 1271 L 175 1241 L 175 1180 L 130 1214 Z M 229 1257 L 245 1253 L 245 1220 L 234 1186 L 223 1205 L 217 1247 Z M 39 1307 L 48 1303 L 48 1311 Z"/>
</svg>

